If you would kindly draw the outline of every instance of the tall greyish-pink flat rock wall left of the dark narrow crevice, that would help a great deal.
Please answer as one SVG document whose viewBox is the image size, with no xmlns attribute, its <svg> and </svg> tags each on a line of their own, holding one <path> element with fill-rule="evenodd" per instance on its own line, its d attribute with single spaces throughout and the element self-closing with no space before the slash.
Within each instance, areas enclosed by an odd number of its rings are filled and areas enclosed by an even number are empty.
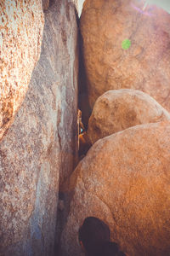
<svg viewBox="0 0 170 256">
<path fill-rule="evenodd" d="M 59 183 L 77 154 L 77 73 L 75 6 L 56 0 L 25 101 L 0 143 L 1 256 L 54 255 Z"/>
</svg>

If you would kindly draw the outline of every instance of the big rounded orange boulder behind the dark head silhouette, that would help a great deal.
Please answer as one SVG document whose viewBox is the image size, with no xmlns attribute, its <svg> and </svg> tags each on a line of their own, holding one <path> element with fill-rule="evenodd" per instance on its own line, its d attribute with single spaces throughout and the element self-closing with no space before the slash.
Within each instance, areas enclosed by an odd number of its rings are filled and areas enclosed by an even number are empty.
<svg viewBox="0 0 170 256">
<path fill-rule="evenodd" d="M 94 143 L 65 188 L 73 196 L 63 255 L 80 255 L 77 232 L 88 216 L 109 224 L 128 255 L 169 255 L 169 152 L 170 122 L 136 125 Z"/>
</svg>

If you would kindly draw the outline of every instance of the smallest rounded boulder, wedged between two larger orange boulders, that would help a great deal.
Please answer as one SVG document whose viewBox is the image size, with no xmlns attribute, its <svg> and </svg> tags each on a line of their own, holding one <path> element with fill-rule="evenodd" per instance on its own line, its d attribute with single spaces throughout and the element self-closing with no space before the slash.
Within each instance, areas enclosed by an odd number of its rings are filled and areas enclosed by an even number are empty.
<svg viewBox="0 0 170 256">
<path fill-rule="evenodd" d="M 102 137 L 131 126 L 163 120 L 170 120 L 170 113 L 144 92 L 108 90 L 94 104 L 88 121 L 88 138 L 94 144 Z"/>
</svg>

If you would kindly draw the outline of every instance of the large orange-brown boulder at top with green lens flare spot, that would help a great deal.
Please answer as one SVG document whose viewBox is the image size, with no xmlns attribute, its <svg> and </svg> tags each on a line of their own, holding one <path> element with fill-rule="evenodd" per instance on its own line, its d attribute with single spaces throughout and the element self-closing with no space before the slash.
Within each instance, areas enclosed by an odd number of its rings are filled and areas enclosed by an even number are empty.
<svg viewBox="0 0 170 256">
<path fill-rule="evenodd" d="M 81 32 L 91 108 L 105 91 L 129 88 L 170 110 L 170 15 L 143 7 L 138 0 L 85 1 Z"/>
</svg>

